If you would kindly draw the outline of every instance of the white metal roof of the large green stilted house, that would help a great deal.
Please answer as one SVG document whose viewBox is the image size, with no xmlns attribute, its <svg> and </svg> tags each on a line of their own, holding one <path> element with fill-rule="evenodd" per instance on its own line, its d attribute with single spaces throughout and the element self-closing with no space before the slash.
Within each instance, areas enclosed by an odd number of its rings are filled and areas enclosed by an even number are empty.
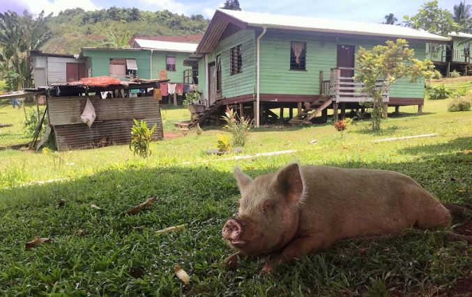
<svg viewBox="0 0 472 297">
<path fill-rule="evenodd" d="M 218 8 L 220 13 L 234 17 L 248 26 L 268 27 L 327 33 L 344 33 L 395 38 L 412 38 L 418 40 L 449 41 L 449 38 L 411 29 L 404 26 L 349 22 L 339 19 L 322 19 L 317 17 L 300 17 L 293 15 L 273 15 L 270 13 L 252 13 L 249 11 L 226 10 Z"/>
</svg>

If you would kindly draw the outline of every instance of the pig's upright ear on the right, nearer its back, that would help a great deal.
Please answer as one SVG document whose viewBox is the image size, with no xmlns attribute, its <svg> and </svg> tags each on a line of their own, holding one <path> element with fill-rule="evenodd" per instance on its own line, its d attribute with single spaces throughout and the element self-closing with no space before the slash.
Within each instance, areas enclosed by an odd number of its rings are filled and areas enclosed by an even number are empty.
<svg viewBox="0 0 472 297">
<path fill-rule="evenodd" d="M 275 187 L 288 202 L 298 203 L 303 192 L 303 181 L 297 163 L 282 168 L 275 177 Z"/>
</svg>

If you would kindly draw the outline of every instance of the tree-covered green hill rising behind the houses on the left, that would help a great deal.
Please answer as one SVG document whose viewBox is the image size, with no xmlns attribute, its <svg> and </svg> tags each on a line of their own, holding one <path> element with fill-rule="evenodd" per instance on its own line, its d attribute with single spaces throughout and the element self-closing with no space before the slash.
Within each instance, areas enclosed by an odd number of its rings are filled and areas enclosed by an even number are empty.
<svg viewBox="0 0 472 297">
<path fill-rule="evenodd" d="M 178 15 L 168 10 L 108 8 L 84 11 L 68 9 L 47 21 L 54 34 L 41 48 L 45 52 L 77 54 L 81 47 L 102 46 L 123 35 L 190 35 L 204 33 L 208 19 L 202 15 Z"/>
</svg>

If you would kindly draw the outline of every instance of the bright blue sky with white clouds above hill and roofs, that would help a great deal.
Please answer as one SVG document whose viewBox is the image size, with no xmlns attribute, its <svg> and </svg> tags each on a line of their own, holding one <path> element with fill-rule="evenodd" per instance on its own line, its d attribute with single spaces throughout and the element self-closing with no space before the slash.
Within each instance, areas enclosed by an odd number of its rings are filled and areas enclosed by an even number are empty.
<svg viewBox="0 0 472 297">
<path fill-rule="evenodd" d="M 441 8 L 452 11 L 452 7 L 460 0 L 439 0 Z M 215 8 L 222 6 L 223 0 L 0 0 L 0 12 L 12 10 L 21 13 L 28 9 L 32 13 L 57 15 L 67 8 L 80 7 L 84 10 L 101 8 L 136 7 L 140 10 L 170 10 L 172 13 L 184 15 L 201 14 L 211 19 Z M 382 22 L 383 16 L 393 13 L 399 21 L 404 15 L 414 15 L 422 5 L 423 0 L 239 0 L 243 10 L 258 13 L 274 13 L 282 15 L 300 15 L 306 17 L 324 17 L 344 19 L 358 22 Z M 472 0 L 466 3 L 472 4 Z"/>
</svg>

